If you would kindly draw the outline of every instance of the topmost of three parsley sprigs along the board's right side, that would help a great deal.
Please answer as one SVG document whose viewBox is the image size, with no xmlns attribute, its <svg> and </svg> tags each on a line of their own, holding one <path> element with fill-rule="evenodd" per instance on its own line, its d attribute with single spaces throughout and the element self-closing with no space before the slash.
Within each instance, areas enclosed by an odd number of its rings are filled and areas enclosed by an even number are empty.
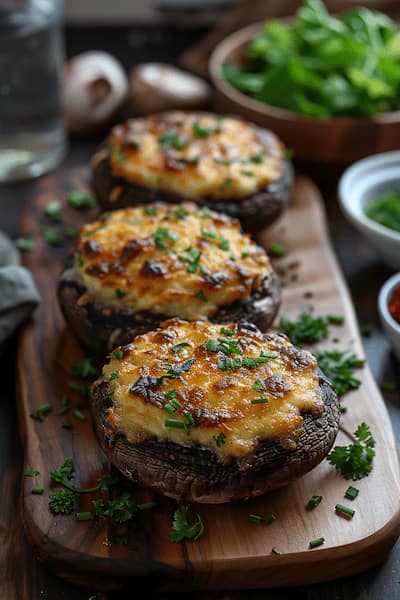
<svg viewBox="0 0 400 600">
<path fill-rule="evenodd" d="M 311 313 L 302 312 L 294 321 L 281 317 L 279 328 L 295 345 L 319 342 L 329 335 L 329 325 L 341 325 L 344 318 L 340 315 L 313 317 Z"/>
</svg>

